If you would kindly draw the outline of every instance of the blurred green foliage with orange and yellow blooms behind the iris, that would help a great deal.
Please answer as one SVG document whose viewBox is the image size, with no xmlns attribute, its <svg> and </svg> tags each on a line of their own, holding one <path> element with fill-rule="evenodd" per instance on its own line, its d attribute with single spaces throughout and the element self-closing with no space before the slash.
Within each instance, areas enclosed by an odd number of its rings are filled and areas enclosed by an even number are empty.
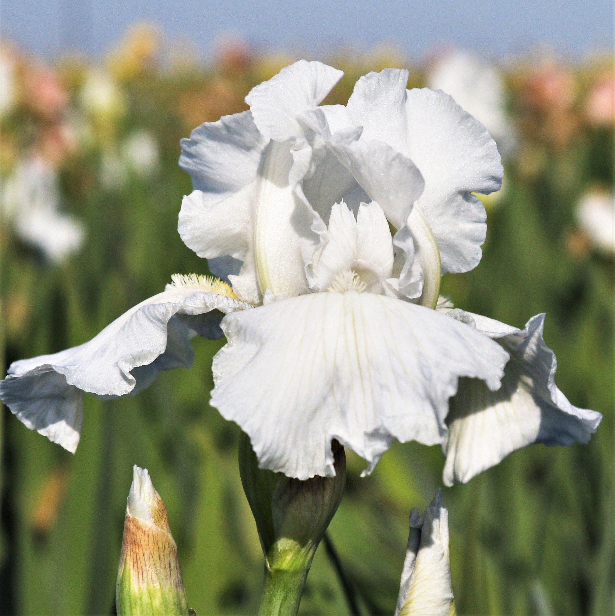
<svg viewBox="0 0 615 616">
<path fill-rule="evenodd" d="M 131 36 L 107 63 L 123 92 L 122 110 L 98 119 L 80 110 L 89 68 L 70 59 L 54 73 L 67 97 L 60 115 L 49 118 L 23 99 L 3 124 L 5 176 L 25 152 L 47 147 L 47 129 L 67 118 L 89 126 L 54 158 L 63 207 L 87 227 L 81 252 L 49 264 L 3 225 L 7 363 L 86 341 L 162 290 L 175 272 L 207 273 L 206 262 L 177 234 L 182 195 L 191 190 L 177 166 L 179 139 L 202 121 L 243 110 L 250 87 L 290 61 L 250 57 L 238 47 L 207 68 L 185 56 L 163 65 L 153 31 Z M 367 70 L 403 62 L 386 54 L 329 60 L 347 75 L 328 102 L 345 102 Z M 30 60 L 20 62 L 27 71 Z M 523 327 L 547 312 L 545 339 L 559 360 L 558 385 L 575 405 L 605 416 L 589 445 L 534 445 L 468 485 L 444 490 L 460 614 L 615 613 L 613 259 L 592 250 L 574 215 L 588 188 L 613 184 L 612 124 L 593 126 L 582 115 L 582 101 L 605 66 L 595 60 L 556 67 L 576 84 L 563 111 L 536 93 L 540 73 L 531 63 L 508 71 L 518 150 L 505 161 L 503 194 L 487 203 L 481 264 L 444 277 L 444 292 L 457 306 L 511 325 Z M 411 85 L 423 79 L 411 71 Z M 128 169 L 121 182 L 105 185 L 105 156 L 119 152 L 137 128 L 158 144 L 155 172 L 142 177 Z M 135 397 L 102 402 L 86 395 L 74 456 L 4 409 L 2 613 L 115 610 L 133 464 L 149 469 L 163 496 L 191 607 L 199 616 L 257 611 L 263 559 L 239 480 L 238 428 L 207 403 L 211 359 L 222 344 L 195 339 L 191 370 L 162 373 Z M 422 510 L 432 499 L 442 467 L 439 448 L 396 444 L 361 479 L 361 460 L 348 455 L 347 488 L 330 535 L 364 614 L 395 609 L 409 509 Z M 348 613 L 323 546 L 300 611 Z"/>
</svg>

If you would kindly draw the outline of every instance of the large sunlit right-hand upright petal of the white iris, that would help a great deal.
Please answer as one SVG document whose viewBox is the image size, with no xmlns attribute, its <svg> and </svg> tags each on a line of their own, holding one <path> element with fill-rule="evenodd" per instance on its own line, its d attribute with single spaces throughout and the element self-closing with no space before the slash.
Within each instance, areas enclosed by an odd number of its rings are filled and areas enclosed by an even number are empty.
<svg viewBox="0 0 615 616">
<path fill-rule="evenodd" d="M 443 270 L 465 272 L 480 261 L 486 232 L 483 205 L 472 192 L 493 192 L 502 182 L 497 147 L 452 97 L 406 90 L 407 79 L 396 69 L 363 76 L 348 100 L 348 115 L 363 126 L 361 142 L 384 141 L 416 164 L 425 180 L 417 205 L 438 242 Z"/>
</svg>

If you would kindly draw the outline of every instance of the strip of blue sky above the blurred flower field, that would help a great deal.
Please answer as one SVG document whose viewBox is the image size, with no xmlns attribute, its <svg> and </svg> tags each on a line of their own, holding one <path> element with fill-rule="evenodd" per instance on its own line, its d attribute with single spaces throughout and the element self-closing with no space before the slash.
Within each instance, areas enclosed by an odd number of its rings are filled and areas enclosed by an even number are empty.
<svg viewBox="0 0 615 616">
<path fill-rule="evenodd" d="M 211 53 L 220 33 L 256 49 L 318 54 L 390 42 L 411 58 L 441 44 L 494 57 L 548 44 L 571 57 L 613 44 L 612 0 L 8 0 L 1 32 L 54 57 L 66 43 L 102 54 L 138 20 Z"/>
</svg>

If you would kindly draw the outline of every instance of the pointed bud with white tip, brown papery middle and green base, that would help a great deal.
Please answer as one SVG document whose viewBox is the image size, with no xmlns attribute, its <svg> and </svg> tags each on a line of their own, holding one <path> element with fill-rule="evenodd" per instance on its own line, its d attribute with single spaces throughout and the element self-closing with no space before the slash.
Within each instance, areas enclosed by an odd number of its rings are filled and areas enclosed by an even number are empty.
<svg viewBox="0 0 615 616">
<path fill-rule="evenodd" d="M 167 510 L 147 469 L 134 466 L 126 504 L 116 606 L 119 616 L 188 616 Z"/>
</svg>

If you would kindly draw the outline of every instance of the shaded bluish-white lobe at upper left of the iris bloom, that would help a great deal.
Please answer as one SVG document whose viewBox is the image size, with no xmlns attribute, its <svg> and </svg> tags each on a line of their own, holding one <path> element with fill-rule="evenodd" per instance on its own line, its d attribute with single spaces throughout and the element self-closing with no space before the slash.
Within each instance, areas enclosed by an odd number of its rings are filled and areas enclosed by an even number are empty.
<svg viewBox="0 0 615 616">
<path fill-rule="evenodd" d="M 194 189 L 219 201 L 254 180 L 267 139 L 243 111 L 201 124 L 180 145 L 179 165 L 192 176 Z"/>
</svg>

